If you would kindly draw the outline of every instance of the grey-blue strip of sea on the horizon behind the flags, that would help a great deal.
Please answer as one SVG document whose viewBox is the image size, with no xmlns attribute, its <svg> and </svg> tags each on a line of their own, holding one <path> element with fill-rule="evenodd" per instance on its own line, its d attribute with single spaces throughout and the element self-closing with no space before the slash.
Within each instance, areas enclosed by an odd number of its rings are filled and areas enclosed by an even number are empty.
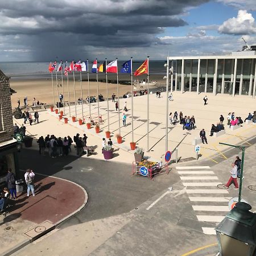
<svg viewBox="0 0 256 256">
<path fill-rule="evenodd" d="M 121 71 L 122 64 L 125 61 L 118 61 L 118 72 Z M 105 61 L 98 61 L 98 64 Z M 133 71 L 135 71 L 142 61 L 133 61 Z M 150 75 L 166 75 L 164 60 L 150 60 L 149 73 Z M 0 62 L 0 70 L 11 79 L 27 80 L 27 79 L 47 79 L 50 77 L 48 72 L 47 62 Z M 64 64 L 63 64 L 64 68 Z M 89 71 L 92 69 L 92 61 L 89 61 Z M 84 72 L 82 72 L 84 73 Z"/>
</svg>

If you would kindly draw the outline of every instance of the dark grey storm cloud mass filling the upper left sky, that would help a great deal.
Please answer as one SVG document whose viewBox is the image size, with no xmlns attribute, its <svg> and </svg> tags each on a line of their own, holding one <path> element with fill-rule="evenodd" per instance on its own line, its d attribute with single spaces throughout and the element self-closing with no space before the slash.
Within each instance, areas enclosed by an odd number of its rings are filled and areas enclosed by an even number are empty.
<svg viewBox="0 0 256 256">
<path fill-rule="evenodd" d="M 205 2 L 208 0 L 1 1 L 0 35 L 20 35 L 8 47 L 19 43 L 19 48 L 30 49 L 36 59 L 46 57 L 46 51 L 47 55 L 85 54 L 90 46 L 149 47 L 158 43 L 156 35 L 164 28 L 185 26 L 181 15 Z"/>
</svg>

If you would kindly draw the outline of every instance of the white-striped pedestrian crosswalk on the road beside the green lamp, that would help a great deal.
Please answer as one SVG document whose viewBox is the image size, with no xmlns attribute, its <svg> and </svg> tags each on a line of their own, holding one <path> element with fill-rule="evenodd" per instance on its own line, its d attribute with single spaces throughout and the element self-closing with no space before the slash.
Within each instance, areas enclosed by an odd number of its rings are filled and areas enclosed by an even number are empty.
<svg viewBox="0 0 256 256">
<path fill-rule="evenodd" d="M 182 166 L 176 169 L 203 233 L 216 234 L 213 224 L 217 225 L 229 212 L 229 192 L 217 187 L 221 182 L 209 166 Z"/>
</svg>

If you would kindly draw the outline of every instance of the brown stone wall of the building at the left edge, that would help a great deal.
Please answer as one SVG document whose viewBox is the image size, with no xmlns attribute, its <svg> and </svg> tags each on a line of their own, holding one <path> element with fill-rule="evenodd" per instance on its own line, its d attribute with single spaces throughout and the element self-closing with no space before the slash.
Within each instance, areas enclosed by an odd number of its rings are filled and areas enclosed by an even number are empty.
<svg viewBox="0 0 256 256">
<path fill-rule="evenodd" d="M 11 110 L 10 82 L 0 70 L 0 143 L 13 138 L 13 113 Z"/>
</svg>

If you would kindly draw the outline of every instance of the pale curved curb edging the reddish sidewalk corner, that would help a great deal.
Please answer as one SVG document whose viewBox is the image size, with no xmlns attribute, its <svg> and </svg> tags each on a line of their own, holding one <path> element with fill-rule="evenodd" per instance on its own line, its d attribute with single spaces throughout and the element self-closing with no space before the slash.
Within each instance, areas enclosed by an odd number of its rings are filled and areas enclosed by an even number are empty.
<svg viewBox="0 0 256 256">
<path fill-rule="evenodd" d="M 20 170 L 20 171 L 23 171 L 23 172 L 24 172 L 24 170 Z M 35 174 L 42 175 L 42 176 L 46 176 L 46 177 L 53 177 L 53 178 L 55 178 L 55 179 L 65 180 L 65 179 L 62 179 L 62 178 L 60 178 L 60 177 L 55 177 L 55 176 L 52 176 L 52 175 L 40 174 L 39 172 L 35 172 Z M 82 191 L 84 191 L 85 200 L 84 200 L 84 203 L 82 203 L 81 207 L 79 207 L 77 210 L 75 210 L 75 212 L 72 212 L 71 214 L 65 216 L 64 218 L 62 218 L 61 220 L 59 220 L 59 221 L 57 221 L 55 224 L 53 224 L 52 228 L 49 229 L 48 232 L 51 232 L 53 229 L 57 228 L 57 226 L 58 226 L 61 222 L 64 222 L 65 220 L 68 220 L 68 218 L 74 216 L 77 212 L 80 212 L 80 210 L 85 207 L 85 205 L 86 205 L 86 203 L 87 203 L 87 201 L 88 201 L 88 193 L 86 192 L 86 190 L 85 190 L 83 187 L 81 187 L 81 185 L 79 185 L 79 184 L 77 184 L 77 183 L 75 183 L 75 182 L 73 182 L 73 181 L 70 181 L 70 180 L 65 180 L 65 181 L 68 181 L 68 182 L 70 182 L 70 183 L 73 183 L 73 184 L 77 185 L 77 187 L 80 187 L 80 188 L 82 189 Z M 44 233 L 43 236 L 44 236 L 45 234 L 47 234 L 48 232 Z M 18 243 L 18 245 L 15 245 L 15 246 L 12 247 L 11 249 L 5 251 L 3 254 L 0 254 L 0 255 L 1 255 L 1 256 L 9 256 L 9 255 L 15 253 L 16 251 L 22 249 L 23 247 L 27 246 L 27 245 L 30 244 L 31 242 L 34 242 L 36 239 L 38 239 L 38 238 L 40 238 L 40 237 L 43 237 L 43 236 L 39 236 L 39 237 L 36 237 L 36 238 L 34 238 L 34 239 L 31 239 L 31 240 L 30 240 L 30 239 L 26 239 L 26 240 L 24 240 L 23 242 Z"/>
</svg>

